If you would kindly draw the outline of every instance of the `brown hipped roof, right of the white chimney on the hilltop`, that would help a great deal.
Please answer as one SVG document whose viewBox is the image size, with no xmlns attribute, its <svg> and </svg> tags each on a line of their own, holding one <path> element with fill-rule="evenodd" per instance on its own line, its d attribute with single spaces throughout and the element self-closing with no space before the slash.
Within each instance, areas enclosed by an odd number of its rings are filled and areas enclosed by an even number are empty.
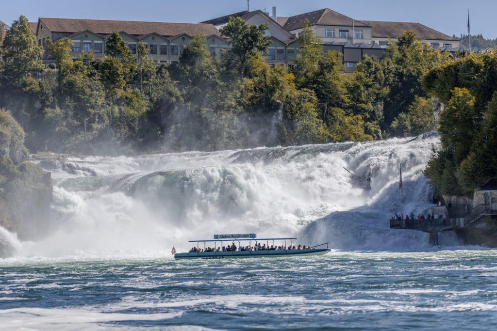
<svg viewBox="0 0 497 331">
<path fill-rule="evenodd" d="M 328 8 L 288 17 L 288 20 L 283 27 L 288 31 L 301 29 L 306 19 L 309 20 L 309 25 L 355 25 L 368 27 L 368 25 L 362 23 L 362 21 L 355 21 L 348 16 Z"/>
</svg>

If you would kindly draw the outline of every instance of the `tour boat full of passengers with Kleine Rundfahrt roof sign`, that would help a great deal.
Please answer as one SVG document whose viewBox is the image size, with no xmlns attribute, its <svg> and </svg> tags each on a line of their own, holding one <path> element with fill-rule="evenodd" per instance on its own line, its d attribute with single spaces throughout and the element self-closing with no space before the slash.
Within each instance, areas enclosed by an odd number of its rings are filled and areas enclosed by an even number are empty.
<svg viewBox="0 0 497 331">
<path fill-rule="evenodd" d="M 214 235 L 214 239 L 210 240 L 190 240 L 189 243 L 197 244 L 197 252 L 188 252 L 188 253 L 176 253 L 176 250 L 172 249 L 172 253 L 174 254 L 175 260 L 180 259 L 203 259 L 203 260 L 216 260 L 216 259 L 240 259 L 240 258 L 281 258 L 281 257 L 294 257 L 294 256 L 310 256 L 310 255 L 324 255 L 328 252 L 331 252 L 331 249 L 328 248 L 328 243 L 324 243 L 321 245 L 309 247 L 306 249 L 291 249 L 293 248 L 293 241 L 297 240 L 297 238 L 261 238 L 258 239 L 255 233 L 249 234 L 216 234 Z M 275 241 L 282 243 L 280 245 L 280 249 L 276 249 L 278 246 L 275 245 Z M 252 243 L 254 243 L 254 247 L 260 243 L 264 243 L 267 248 L 269 248 L 269 244 L 272 243 L 272 247 L 275 249 L 264 249 L 264 250 L 245 250 L 240 251 L 238 248 L 241 246 L 241 242 L 247 243 L 252 247 Z M 201 249 L 200 243 L 204 243 L 204 248 Z M 212 251 L 206 252 L 207 243 L 212 243 L 214 247 Z M 232 246 L 233 243 L 238 243 L 235 245 L 237 247 L 234 251 L 222 250 L 223 247 Z M 286 244 L 289 243 L 287 247 Z M 326 248 L 324 246 L 326 245 Z M 285 249 L 286 248 L 286 249 Z M 218 250 L 219 249 L 219 250 Z"/>
</svg>

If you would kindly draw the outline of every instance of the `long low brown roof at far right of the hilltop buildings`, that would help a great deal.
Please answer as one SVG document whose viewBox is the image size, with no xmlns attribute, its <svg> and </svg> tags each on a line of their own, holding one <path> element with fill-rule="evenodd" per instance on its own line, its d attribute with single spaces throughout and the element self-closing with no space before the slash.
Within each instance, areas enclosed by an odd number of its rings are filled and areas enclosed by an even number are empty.
<svg viewBox="0 0 497 331">
<path fill-rule="evenodd" d="M 414 31 L 419 39 L 424 40 L 458 40 L 438 32 L 420 23 L 361 21 L 372 27 L 373 38 L 399 38 L 404 31 Z"/>
</svg>

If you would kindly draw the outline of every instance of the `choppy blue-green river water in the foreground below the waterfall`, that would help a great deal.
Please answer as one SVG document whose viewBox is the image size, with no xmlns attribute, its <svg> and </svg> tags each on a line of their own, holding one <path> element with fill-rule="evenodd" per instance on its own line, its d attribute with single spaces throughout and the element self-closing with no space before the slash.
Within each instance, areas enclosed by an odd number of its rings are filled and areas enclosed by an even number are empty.
<svg viewBox="0 0 497 331">
<path fill-rule="evenodd" d="M 0 329 L 495 330 L 497 251 L 0 260 Z"/>
</svg>

